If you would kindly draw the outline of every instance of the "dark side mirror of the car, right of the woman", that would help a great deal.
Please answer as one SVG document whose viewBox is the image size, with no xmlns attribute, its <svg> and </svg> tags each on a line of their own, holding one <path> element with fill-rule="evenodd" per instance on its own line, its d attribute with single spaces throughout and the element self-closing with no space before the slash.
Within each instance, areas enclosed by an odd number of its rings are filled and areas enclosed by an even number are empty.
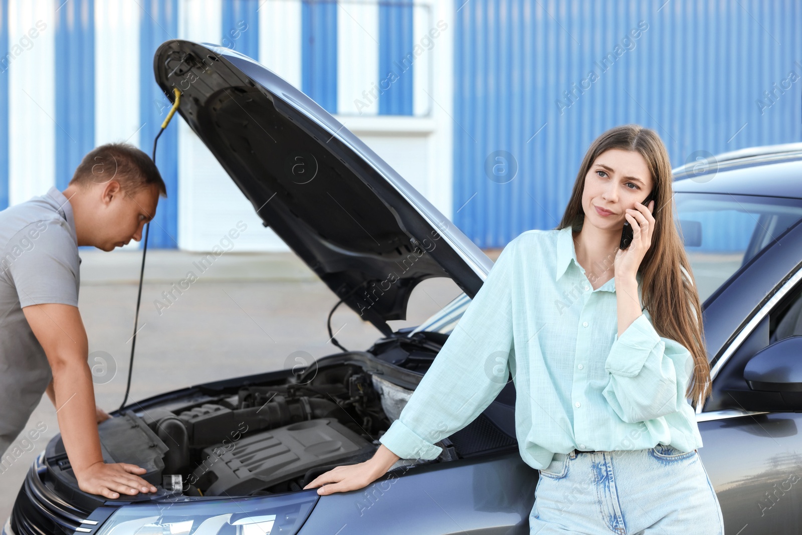
<svg viewBox="0 0 802 535">
<path fill-rule="evenodd" d="M 743 369 L 756 411 L 802 410 L 802 336 L 789 336 L 755 353 Z M 745 392 L 742 392 L 745 394 Z"/>
</svg>

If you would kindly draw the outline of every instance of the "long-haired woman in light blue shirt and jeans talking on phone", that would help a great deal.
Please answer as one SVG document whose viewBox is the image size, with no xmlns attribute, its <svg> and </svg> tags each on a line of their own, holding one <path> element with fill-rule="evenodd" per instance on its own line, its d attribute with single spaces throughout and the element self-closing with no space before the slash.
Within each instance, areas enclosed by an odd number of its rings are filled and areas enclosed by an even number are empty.
<svg viewBox="0 0 802 535">
<path fill-rule="evenodd" d="M 593 141 L 560 225 L 504 248 L 375 456 L 306 488 L 435 459 L 512 374 L 520 456 L 540 475 L 531 533 L 723 535 L 697 451 L 710 366 L 671 180 L 654 131 Z"/>
</svg>

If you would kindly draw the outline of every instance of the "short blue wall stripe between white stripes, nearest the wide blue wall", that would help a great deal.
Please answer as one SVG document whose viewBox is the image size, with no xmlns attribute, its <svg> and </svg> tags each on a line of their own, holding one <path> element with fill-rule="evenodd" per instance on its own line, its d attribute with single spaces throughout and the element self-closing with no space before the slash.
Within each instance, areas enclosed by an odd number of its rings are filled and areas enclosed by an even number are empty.
<svg viewBox="0 0 802 535">
<path fill-rule="evenodd" d="M 379 2 L 379 115 L 412 115 L 412 2 Z"/>
</svg>

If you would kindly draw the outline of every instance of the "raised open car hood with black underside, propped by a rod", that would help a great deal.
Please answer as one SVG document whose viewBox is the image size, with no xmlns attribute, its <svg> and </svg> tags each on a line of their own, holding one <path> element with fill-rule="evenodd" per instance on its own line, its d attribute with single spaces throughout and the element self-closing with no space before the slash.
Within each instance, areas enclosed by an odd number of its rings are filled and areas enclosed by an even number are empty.
<svg viewBox="0 0 802 535">
<path fill-rule="evenodd" d="M 383 334 L 412 289 L 449 277 L 473 297 L 492 261 L 314 100 L 245 55 L 172 40 L 156 82 L 257 215 Z"/>
</svg>

